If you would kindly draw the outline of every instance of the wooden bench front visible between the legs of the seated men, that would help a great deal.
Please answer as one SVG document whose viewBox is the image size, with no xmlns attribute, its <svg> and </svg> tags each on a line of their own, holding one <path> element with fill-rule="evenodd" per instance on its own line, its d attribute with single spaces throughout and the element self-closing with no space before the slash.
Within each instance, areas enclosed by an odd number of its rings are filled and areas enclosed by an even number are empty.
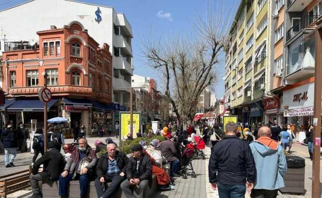
<svg viewBox="0 0 322 198">
<path fill-rule="evenodd" d="M 59 184 L 58 181 L 54 182 L 53 184 L 47 184 L 47 183 L 42 184 L 43 197 L 44 198 L 57 198 L 58 197 L 58 184 Z M 153 197 L 157 192 L 158 192 L 157 177 L 153 175 L 152 180 L 150 181 L 149 187 L 146 192 L 146 198 Z M 142 193 L 136 194 L 136 192 L 134 191 L 134 195 L 137 198 L 143 198 Z M 71 181 L 70 182 L 70 189 L 69 189 L 69 198 L 79 198 L 79 197 L 80 197 L 80 183 L 79 183 L 79 181 Z M 87 198 L 97 198 L 97 193 L 96 193 L 94 181 L 90 182 Z M 122 193 L 122 190 L 120 187 L 115 192 L 114 198 L 126 198 L 124 193 Z"/>
</svg>

